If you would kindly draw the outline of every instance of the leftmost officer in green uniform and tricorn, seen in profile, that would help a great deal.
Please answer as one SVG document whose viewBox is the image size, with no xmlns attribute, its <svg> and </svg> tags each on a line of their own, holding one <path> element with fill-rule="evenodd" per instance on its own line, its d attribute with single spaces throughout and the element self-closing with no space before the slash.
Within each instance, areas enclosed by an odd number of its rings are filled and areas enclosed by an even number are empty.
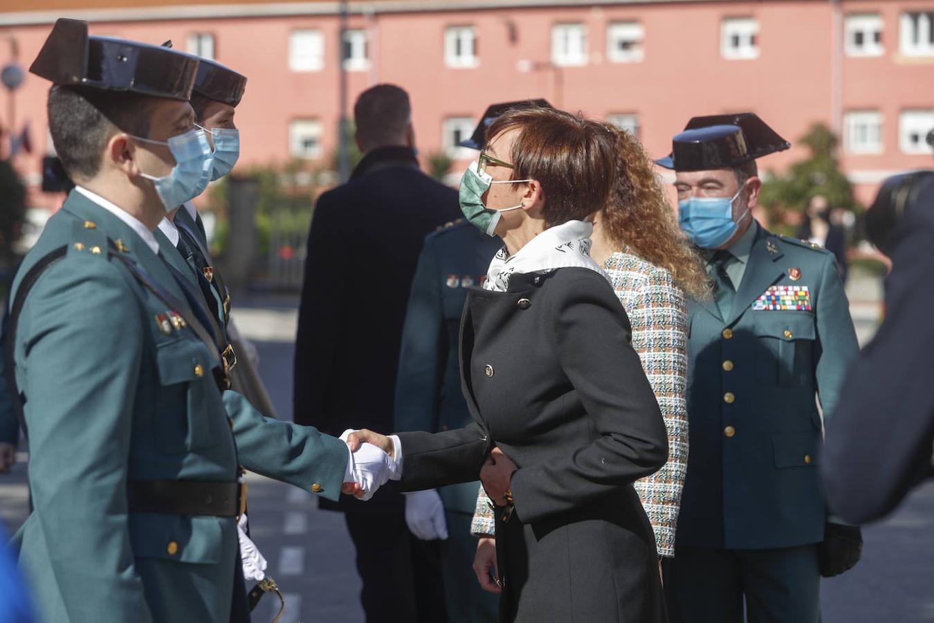
<svg viewBox="0 0 934 623">
<path fill-rule="evenodd" d="M 50 134 L 77 184 L 14 280 L 8 323 L 35 505 L 17 540 L 45 620 L 247 616 L 224 366 L 152 234 L 210 152 L 188 103 L 197 65 L 59 20 L 31 67 L 53 83 Z M 338 497 L 346 447 L 307 439 L 320 496 Z"/>
</svg>

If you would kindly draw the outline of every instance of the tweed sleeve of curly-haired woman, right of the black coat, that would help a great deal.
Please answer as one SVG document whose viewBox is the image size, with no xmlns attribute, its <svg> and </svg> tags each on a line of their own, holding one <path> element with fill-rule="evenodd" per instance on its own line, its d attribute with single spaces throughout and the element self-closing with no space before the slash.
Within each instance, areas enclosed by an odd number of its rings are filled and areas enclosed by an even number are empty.
<svg viewBox="0 0 934 623">
<path fill-rule="evenodd" d="M 627 309 L 632 347 L 642 361 L 668 431 L 668 461 L 635 482 L 660 556 L 674 556 L 674 531 L 687 469 L 687 302 L 672 277 L 652 276 Z"/>
</svg>

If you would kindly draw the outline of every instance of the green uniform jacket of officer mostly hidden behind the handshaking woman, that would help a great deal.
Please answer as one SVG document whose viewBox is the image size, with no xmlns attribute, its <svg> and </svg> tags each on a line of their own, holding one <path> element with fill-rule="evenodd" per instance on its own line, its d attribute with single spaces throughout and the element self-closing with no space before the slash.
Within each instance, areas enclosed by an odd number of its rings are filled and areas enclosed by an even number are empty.
<svg viewBox="0 0 934 623">
<path fill-rule="evenodd" d="M 460 316 L 467 289 L 481 283 L 501 247 L 464 220 L 425 238 L 405 310 L 395 431 L 441 432 L 473 421 L 460 391 Z M 473 482 L 439 492 L 447 510 L 473 516 L 477 490 Z"/>
</svg>

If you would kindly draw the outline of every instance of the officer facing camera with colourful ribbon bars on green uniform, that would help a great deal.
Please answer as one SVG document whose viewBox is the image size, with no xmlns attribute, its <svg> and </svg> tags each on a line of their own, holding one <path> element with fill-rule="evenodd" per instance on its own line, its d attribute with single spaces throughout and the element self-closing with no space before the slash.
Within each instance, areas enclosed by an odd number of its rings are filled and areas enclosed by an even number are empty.
<svg viewBox="0 0 934 623">
<path fill-rule="evenodd" d="M 665 582 L 675 621 L 740 623 L 744 598 L 750 621 L 816 623 L 821 572 L 854 562 L 821 565 L 821 543 L 827 558 L 852 529 L 827 528 L 814 400 L 834 412 L 856 355 L 846 296 L 831 253 L 750 214 L 756 159 L 788 147 L 752 113 L 698 117 L 658 161 L 716 285 L 688 310 L 691 451 Z"/>
</svg>

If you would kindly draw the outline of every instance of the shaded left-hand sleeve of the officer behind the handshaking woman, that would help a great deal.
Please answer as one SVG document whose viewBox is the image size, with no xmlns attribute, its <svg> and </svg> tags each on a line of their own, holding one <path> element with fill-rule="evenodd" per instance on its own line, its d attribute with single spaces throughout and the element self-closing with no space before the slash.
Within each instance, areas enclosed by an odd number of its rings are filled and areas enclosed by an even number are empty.
<svg viewBox="0 0 934 623">
<path fill-rule="evenodd" d="M 436 431 L 438 397 L 445 370 L 447 336 L 432 241 L 418 257 L 405 310 L 399 373 L 396 377 L 396 431 Z"/>
</svg>

